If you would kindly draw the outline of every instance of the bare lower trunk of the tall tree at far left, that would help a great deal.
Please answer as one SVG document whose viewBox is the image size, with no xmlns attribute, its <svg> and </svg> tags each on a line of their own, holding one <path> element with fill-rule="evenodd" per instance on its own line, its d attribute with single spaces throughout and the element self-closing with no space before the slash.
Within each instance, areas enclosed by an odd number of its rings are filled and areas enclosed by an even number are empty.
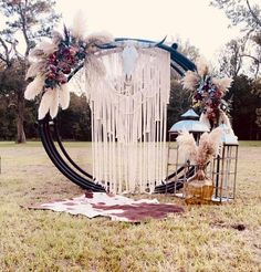
<svg viewBox="0 0 261 272">
<path fill-rule="evenodd" d="M 17 144 L 27 143 L 24 129 L 23 129 L 23 121 L 24 121 L 24 98 L 23 98 L 23 90 L 18 93 L 18 108 L 17 108 Z"/>
</svg>

